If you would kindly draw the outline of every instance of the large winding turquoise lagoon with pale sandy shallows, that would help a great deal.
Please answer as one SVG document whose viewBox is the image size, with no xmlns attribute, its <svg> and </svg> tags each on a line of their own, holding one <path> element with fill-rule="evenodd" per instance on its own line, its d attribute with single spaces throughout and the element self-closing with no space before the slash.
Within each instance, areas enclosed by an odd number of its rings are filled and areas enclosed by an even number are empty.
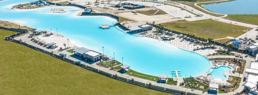
<svg viewBox="0 0 258 95">
<path fill-rule="evenodd" d="M 5 0 L 0 2 L 0 19 L 17 21 L 29 27 L 48 30 L 65 35 L 69 40 L 88 49 L 96 50 L 131 66 L 131 69 L 149 75 L 167 74 L 180 70 L 182 77 L 197 76 L 210 68 L 205 57 L 176 48 L 165 42 L 126 34 L 116 27 L 101 29 L 100 25 L 111 25 L 114 20 L 101 16 L 75 16 L 78 11 L 67 13 L 48 13 L 51 8 L 36 10 L 10 10 L 7 7 L 32 0 Z M 72 7 L 59 7 L 73 10 Z"/>
</svg>

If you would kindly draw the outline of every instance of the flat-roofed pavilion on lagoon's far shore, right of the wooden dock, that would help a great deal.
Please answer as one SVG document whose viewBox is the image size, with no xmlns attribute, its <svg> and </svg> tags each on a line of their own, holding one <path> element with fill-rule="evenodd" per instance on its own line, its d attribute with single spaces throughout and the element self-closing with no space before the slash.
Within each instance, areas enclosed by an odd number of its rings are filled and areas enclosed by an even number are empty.
<svg viewBox="0 0 258 95">
<path fill-rule="evenodd" d="M 139 33 L 139 32 L 152 30 L 152 27 L 153 27 L 152 25 L 144 24 L 144 25 L 140 25 L 138 27 L 131 27 L 128 29 L 129 29 L 130 34 L 131 33 L 135 34 L 135 33 Z"/>
</svg>

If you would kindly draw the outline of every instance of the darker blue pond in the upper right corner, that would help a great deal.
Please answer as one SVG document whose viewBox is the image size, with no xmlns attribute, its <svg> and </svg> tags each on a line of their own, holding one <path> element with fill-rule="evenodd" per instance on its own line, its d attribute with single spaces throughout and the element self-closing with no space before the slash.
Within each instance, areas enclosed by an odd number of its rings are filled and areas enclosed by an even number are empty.
<svg viewBox="0 0 258 95">
<path fill-rule="evenodd" d="M 257 4 L 258 0 L 235 0 L 202 5 L 202 7 L 221 14 L 258 14 Z"/>
</svg>

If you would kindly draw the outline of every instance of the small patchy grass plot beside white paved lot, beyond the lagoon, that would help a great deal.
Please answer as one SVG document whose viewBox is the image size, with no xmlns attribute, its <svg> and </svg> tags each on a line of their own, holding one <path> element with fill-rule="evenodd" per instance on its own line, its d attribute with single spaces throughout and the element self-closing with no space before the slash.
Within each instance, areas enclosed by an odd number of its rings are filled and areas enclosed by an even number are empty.
<svg viewBox="0 0 258 95">
<path fill-rule="evenodd" d="M 148 11 L 137 11 L 137 13 L 141 13 L 141 14 L 148 15 L 148 16 L 167 14 L 166 12 L 162 11 L 161 9 L 152 9 L 152 10 L 148 10 Z"/>
</svg>

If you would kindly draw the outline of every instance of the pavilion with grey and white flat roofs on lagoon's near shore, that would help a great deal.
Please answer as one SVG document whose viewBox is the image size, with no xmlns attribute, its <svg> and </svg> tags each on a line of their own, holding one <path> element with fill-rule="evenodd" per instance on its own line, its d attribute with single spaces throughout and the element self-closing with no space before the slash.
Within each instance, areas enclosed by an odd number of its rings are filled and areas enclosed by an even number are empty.
<svg viewBox="0 0 258 95">
<path fill-rule="evenodd" d="M 82 59 L 91 60 L 91 61 L 100 60 L 102 59 L 102 56 L 103 56 L 102 53 L 99 53 L 90 49 L 86 49 L 84 47 L 74 49 L 72 51 L 74 52 L 75 55 L 82 57 Z"/>
</svg>

